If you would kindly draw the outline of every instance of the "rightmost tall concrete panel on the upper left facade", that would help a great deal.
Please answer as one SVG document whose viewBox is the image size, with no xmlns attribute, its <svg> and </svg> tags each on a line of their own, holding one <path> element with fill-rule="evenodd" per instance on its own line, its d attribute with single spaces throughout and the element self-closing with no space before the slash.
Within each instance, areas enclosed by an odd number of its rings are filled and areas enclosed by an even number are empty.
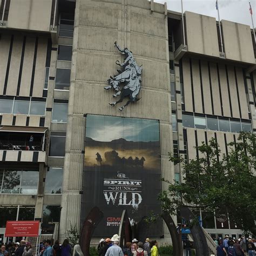
<svg viewBox="0 0 256 256">
<path fill-rule="evenodd" d="M 39 37 L 35 69 L 35 80 L 33 85 L 33 97 L 42 97 L 43 95 L 47 43 L 48 41 L 46 37 Z"/>
</svg>

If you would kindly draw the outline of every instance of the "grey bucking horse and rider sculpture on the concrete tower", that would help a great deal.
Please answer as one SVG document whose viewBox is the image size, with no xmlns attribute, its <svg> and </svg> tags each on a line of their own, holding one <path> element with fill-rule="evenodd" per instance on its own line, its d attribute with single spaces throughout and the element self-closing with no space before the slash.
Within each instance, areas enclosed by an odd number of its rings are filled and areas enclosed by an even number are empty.
<svg viewBox="0 0 256 256">
<path fill-rule="evenodd" d="M 112 77 L 107 80 L 107 83 L 110 84 L 105 86 L 104 89 L 110 90 L 111 88 L 116 91 L 113 97 L 117 97 L 120 95 L 120 99 L 116 102 L 109 103 L 111 106 L 116 105 L 117 103 L 123 102 L 123 99 L 127 96 L 130 99 L 127 103 L 119 107 L 119 110 L 122 111 L 127 105 L 131 102 L 137 102 L 139 100 L 138 93 L 141 87 L 142 81 L 142 66 L 139 66 L 133 58 L 133 54 L 127 48 L 120 48 L 117 42 L 114 42 L 117 49 L 125 55 L 125 60 L 123 63 L 120 63 L 119 60 L 116 61 L 116 64 L 120 66 L 120 70 L 117 70 L 118 75 Z M 121 83 L 124 83 L 124 86 L 121 88 Z"/>
</svg>

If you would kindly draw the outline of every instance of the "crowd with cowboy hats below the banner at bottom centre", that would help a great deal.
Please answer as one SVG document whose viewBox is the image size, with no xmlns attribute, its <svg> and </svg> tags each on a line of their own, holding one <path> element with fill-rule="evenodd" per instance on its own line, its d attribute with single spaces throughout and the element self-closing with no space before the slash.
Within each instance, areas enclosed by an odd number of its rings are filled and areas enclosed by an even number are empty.
<svg viewBox="0 0 256 256">
<path fill-rule="evenodd" d="M 100 239 L 98 245 L 99 256 L 158 256 L 157 241 L 139 242 L 134 238 L 131 242 L 126 242 L 124 248 L 119 246 L 120 237 L 114 234 L 113 237 Z"/>
</svg>

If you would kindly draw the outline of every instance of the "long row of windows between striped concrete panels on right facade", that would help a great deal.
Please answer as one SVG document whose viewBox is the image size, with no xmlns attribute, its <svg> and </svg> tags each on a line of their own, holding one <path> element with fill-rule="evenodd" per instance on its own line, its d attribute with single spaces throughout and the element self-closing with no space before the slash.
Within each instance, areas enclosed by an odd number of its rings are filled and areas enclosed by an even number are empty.
<svg viewBox="0 0 256 256">
<path fill-rule="evenodd" d="M 227 118 L 227 120 L 223 120 L 219 117 L 197 117 L 183 114 L 182 123 L 183 127 L 191 127 L 196 129 L 235 133 L 239 133 L 241 131 L 252 132 L 252 125 L 250 123 L 232 121 L 229 118 Z"/>
</svg>

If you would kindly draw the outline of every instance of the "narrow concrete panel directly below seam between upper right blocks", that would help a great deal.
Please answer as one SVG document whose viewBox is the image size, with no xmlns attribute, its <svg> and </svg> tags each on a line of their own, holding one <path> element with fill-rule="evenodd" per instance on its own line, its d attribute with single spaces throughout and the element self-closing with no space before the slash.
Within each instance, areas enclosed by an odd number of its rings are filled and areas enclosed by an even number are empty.
<svg viewBox="0 0 256 256">
<path fill-rule="evenodd" d="M 230 98 L 228 97 L 227 76 L 224 64 L 219 64 L 220 89 L 223 104 L 223 114 L 225 117 L 231 117 Z"/>
</svg>

